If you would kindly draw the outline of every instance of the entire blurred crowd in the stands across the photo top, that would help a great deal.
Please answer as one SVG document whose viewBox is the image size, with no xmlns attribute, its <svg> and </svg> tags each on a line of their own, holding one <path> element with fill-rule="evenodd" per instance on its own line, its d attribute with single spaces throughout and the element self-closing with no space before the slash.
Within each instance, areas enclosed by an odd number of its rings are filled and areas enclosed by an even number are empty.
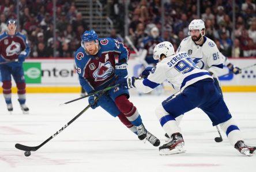
<svg viewBox="0 0 256 172">
<path fill-rule="evenodd" d="M 109 6 L 107 13 L 119 25 L 124 36 L 125 0 L 101 0 Z M 150 29 L 157 28 L 159 37 L 170 41 L 177 48 L 188 36 L 190 21 L 197 19 L 197 0 L 165 0 L 164 20 L 161 0 L 130 0 L 129 37 L 137 49 L 150 36 Z M 256 10 L 254 0 L 235 1 L 235 30 L 232 29 L 232 0 L 200 1 L 200 18 L 205 21 L 205 36 L 216 42 L 219 50 L 228 57 L 256 56 Z M 51 0 L 18 1 L 20 32 L 27 35 L 31 45 L 30 57 L 53 56 L 53 3 Z M 6 20 L 17 18 L 16 1 L 0 2 L 0 33 L 7 29 Z M 82 18 L 76 4 L 71 0 L 57 0 L 57 57 L 72 57 L 80 46 L 82 33 L 88 29 L 88 22 Z M 164 21 L 164 23 L 162 23 Z M 162 27 L 164 28 L 162 29 Z M 115 29 L 110 37 L 116 38 Z M 163 30 L 163 33 L 161 31 Z M 235 40 L 232 41 L 234 34 Z M 119 40 L 123 40 L 119 37 Z M 234 45 L 235 50 L 232 51 Z M 176 50 L 176 49 L 175 49 Z"/>
</svg>

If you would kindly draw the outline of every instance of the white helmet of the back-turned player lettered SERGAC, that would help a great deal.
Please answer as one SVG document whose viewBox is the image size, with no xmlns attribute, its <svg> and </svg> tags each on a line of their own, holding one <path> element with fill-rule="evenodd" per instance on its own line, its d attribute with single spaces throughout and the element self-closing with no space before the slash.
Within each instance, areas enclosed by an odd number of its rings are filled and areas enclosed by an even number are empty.
<svg viewBox="0 0 256 172">
<path fill-rule="evenodd" d="M 153 58 L 155 60 L 159 60 L 162 54 L 164 54 L 166 57 L 175 54 L 174 46 L 171 44 L 171 42 L 164 41 L 155 46 L 153 51 Z"/>
</svg>

